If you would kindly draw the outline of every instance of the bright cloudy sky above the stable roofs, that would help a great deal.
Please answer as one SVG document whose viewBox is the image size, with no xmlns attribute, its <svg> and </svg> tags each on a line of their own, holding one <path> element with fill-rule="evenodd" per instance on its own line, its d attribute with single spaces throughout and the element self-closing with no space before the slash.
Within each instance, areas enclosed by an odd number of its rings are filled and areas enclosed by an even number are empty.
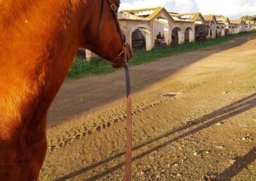
<svg viewBox="0 0 256 181">
<path fill-rule="evenodd" d="M 256 15 L 256 0 L 121 0 L 120 10 L 164 7 L 177 13 L 199 11 L 203 15 L 224 15 L 230 19 Z"/>
</svg>

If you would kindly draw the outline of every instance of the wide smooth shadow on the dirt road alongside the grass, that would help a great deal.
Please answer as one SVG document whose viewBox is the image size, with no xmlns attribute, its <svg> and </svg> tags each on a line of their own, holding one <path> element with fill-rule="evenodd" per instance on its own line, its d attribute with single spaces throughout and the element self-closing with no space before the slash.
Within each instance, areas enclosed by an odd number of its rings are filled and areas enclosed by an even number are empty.
<svg viewBox="0 0 256 181">
<path fill-rule="evenodd" d="M 252 34 L 227 41 L 218 46 L 187 52 L 182 54 L 182 57 L 173 55 L 168 57 L 168 61 L 156 61 L 134 66 L 130 70 L 132 93 L 141 91 L 205 57 L 230 48 L 240 47 L 255 38 L 256 34 Z M 64 83 L 49 110 L 47 127 L 56 126 L 65 120 L 84 115 L 93 108 L 124 98 L 124 95 L 125 79 L 122 71 L 108 75 L 88 76 Z"/>
</svg>

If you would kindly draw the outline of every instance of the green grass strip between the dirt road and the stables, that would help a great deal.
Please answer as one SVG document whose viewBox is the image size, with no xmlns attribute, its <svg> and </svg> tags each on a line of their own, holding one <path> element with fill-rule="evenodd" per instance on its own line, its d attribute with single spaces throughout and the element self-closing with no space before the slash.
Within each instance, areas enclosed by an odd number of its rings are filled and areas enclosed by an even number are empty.
<svg viewBox="0 0 256 181">
<path fill-rule="evenodd" d="M 184 52 L 191 52 L 199 50 L 200 48 L 211 47 L 214 45 L 220 45 L 225 41 L 232 40 L 237 37 L 248 36 L 254 34 L 256 31 L 250 31 L 247 33 L 232 34 L 225 37 L 216 38 L 214 40 L 207 40 L 195 43 L 188 43 L 184 45 L 175 45 L 169 48 L 153 48 L 151 51 L 145 49 L 134 50 L 134 55 L 129 62 L 130 66 L 143 64 L 145 62 L 157 61 L 158 59 L 169 57 L 171 55 L 181 54 Z M 87 62 L 81 60 L 78 57 L 74 58 L 70 71 L 68 72 L 68 78 L 77 78 L 84 75 L 100 75 L 104 73 L 110 73 L 116 71 L 113 69 L 109 62 L 104 61 L 101 58 L 94 58 L 92 61 Z"/>
</svg>

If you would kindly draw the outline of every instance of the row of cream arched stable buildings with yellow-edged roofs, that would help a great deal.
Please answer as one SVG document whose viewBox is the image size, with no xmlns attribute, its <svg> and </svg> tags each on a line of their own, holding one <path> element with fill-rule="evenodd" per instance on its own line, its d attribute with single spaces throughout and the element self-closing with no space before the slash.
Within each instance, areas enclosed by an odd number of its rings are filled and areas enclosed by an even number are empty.
<svg viewBox="0 0 256 181">
<path fill-rule="evenodd" d="M 256 29 L 255 21 L 229 20 L 228 17 L 196 13 L 170 13 L 163 7 L 118 12 L 120 27 L 132 48 L 168 47 L 193 43 Z M 77 56 L 97 57 L 79 49 Z"/>
</svg>

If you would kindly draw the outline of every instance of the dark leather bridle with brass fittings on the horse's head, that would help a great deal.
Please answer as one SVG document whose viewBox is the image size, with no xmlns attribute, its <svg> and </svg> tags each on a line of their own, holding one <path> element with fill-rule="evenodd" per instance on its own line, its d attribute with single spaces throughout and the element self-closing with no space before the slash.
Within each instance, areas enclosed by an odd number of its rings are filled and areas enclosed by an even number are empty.
<svg viewBox="0 0 256 181">
<path fill-rule="evenodd" d="M 116 13 L 116 10 L 118 8 L 116 7 L 115 3 L 111 2 L 111 0 L 107 0 L 107 1 L 108 1 L 108 4 L 109 4 L 112 12 L 113 12 L 113 16 L 114 16 L 114 19 L 115 19 L 115 22 L 116 22 L 116 28 L 118 29 L 118 34 L 120 35 L 120 40 L 121 40 L 121 43 L 122 43 L 122 51 L 119 54 L 116 55 L 116 58 L 115 58 L 114 62 L 117 62 L 118 60 L 120 60 L 122 55 L 124 55 L 124 62 L 125 62 L 124 66 L 127 66 L 127 54 L 126 54 L 126 48 L 125 48 L 126 37 L 122 33 L 122 30 L 120 29 L 120 24 L 118 22 L 118 16 L 117 16 L 117 13 Z M 105 0 L 102 0 L 102 6 L 101 6 L 101 11 L 100 11 L 100 22 L 99 22 L 99 27 L 98 27 L 96 37 L 91 43 L 88 43 L 86 46 L 93 45 L 99 39 L 101 26 L 102 26 L 102 17 L 103 17 L 104 6 L 105 6 Z"/>
</svg>

